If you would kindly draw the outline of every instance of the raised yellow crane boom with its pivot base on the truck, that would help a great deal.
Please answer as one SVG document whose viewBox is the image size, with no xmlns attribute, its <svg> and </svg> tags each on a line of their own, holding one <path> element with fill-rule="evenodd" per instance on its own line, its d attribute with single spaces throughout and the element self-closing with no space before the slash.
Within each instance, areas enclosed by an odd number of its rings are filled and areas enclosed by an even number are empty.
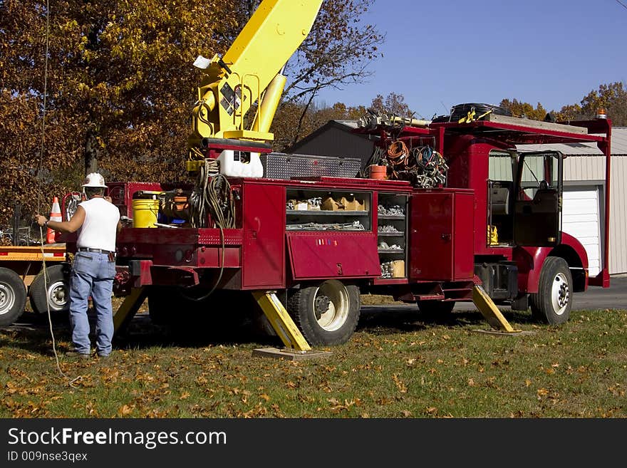
<svg viewBox="0 0 627 468">
<path fill-rule="evenodd" d="M 206 138 L 274 140 L 269 128 L 286 83 L 281 69 L 309 35 L 322 1 L 264 0 L 224 57 L 197 59 L 204 78 L 192 110 L 190 159 Z M 254 103 L 256 114 L 247 117 Z"/>
</svg>

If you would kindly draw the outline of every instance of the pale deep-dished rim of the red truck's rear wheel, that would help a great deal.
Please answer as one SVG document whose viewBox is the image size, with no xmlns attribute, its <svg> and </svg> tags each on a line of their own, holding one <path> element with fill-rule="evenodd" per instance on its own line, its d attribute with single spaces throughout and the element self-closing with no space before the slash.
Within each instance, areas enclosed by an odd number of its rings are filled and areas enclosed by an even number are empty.
<svg viewBox="0 0 627 468">
<path fill-rule="evenodd" d="M 314 313 L 318 326 L 336 331 L 346 323 L 350 300 L 346 286 L 337 280 L 325 281 L 314 294 Z"/>
</svg>

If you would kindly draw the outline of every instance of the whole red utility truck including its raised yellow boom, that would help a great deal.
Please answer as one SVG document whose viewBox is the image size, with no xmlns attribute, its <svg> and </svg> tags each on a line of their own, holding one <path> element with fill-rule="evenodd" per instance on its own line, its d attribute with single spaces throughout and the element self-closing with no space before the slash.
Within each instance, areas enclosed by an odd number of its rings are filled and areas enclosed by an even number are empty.
<svg viewBox="0 0 627 468">
<path fill-rule="evenodd" d="M 118 235 L 115 293 L 127 300 L 116 326 L 146 297 L 155 321 L 176 322 L 228 316 L 271 292 L 309 343 L 333 345 L 355 330 L 361 292 L 446 313 L 482 284 L 495 303 L 555 324 L 573 293 L 609 286 L 608 229 L 594 278 L 584 247 L 561 232 L 564 155 L 517 149 L 595 142 L 607 226 L 609 120 L 534 122 L 480 106 L 433 122 L 371 119 L 357 131 L 375 137 L 384 179 L 358 177 L 350 158 L 271 152 L 279 71 L 320 4 L 263 1 L 224 57 L 197 60 L 190 184 L 109 184 L 133 218 Z M 279 336 L 289 328 L 272 323 Z"/>
</svg>

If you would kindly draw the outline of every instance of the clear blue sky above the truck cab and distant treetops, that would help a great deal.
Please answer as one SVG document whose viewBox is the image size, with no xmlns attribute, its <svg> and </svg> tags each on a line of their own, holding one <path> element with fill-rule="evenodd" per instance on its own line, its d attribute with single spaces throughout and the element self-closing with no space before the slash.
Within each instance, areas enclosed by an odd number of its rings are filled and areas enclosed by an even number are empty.
<svg viewBox="0 0 627 468">
<path fill-rule="evenodd" d="M 627 0 L 621 0 L 627 6 Z M 400 93 L 424 118 L 460 103 L 516 98 L 547 110 L 627 82 L 627 8 L 616 0 L 374 0 L 385 34 L 367 83 L 318 102 L 369 105 Z"/>
</svg>

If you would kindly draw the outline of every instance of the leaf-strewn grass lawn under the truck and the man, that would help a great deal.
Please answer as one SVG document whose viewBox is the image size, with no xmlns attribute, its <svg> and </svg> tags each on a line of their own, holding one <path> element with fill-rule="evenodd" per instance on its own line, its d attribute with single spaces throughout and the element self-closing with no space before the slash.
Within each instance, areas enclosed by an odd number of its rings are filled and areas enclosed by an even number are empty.
<svg viewBox="0 0 627 468">
<path fill-rule="evenodd" d="M 300 362 L 252 357 L 274 338 L 197 324 L 177 338 L 142 315 L 110 360 L 61 356 L 68 378 L 45 326 L 0 330 L 0 417 L 627 417 L 627 311 L 559 328 L 504 311 L 534 331 L 517 337 L 474 333 L 478 312 L 367 311 L 349 343 Z M 66 321 L 55 329 L 68 350 Z"/>
</svg>

